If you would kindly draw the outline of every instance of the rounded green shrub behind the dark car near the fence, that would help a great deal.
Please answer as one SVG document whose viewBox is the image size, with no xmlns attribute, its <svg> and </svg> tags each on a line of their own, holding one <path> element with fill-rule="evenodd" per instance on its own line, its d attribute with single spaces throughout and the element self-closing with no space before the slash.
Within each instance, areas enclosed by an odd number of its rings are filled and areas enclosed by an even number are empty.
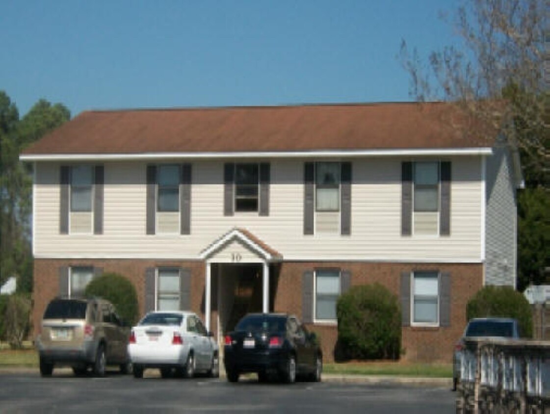
<svg viewBox="0 0 550 414">
<path fill-rule="evenodd" d="M 466 318 L 503 317 L 518 319 L 521 335 L 533 335 L 531 305 L 510 286 L 485 286 L 466 305 Z"/>
</svg>

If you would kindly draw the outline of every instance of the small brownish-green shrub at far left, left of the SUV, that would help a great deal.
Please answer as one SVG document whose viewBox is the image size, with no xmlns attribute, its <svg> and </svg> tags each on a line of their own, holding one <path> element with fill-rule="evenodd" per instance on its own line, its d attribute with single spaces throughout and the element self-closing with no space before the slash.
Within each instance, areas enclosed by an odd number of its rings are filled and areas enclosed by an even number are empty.
<svg viewBox="0 0 550 414">
<path fill-rule="evenodd" d="M 29 335 L 31 310 L 29 294 L 16 293 L 8 296 L 2 317 L 5 321 L 5 336 L 14 349 L 23 348 L 23 341 Z"/>
</svg>

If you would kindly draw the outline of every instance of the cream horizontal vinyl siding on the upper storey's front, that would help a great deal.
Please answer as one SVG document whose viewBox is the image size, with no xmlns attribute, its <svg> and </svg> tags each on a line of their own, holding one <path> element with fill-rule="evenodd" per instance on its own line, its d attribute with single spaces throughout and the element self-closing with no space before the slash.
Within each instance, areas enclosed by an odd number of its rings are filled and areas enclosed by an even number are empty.
<svg viewBox="0 0 550 414">
<path fill-rule="evenodd" d="M 59 235 L 59 164 L 36 163 L 34 251 L 37 258 L 166 258 L 194 260 L 230 229 L 245 228 L 284 260 L 480 262 L 482 185 L 476 156 L 453 163 L 452 235 L 403 238 L 399 157 L 354 158 L 351 235 L 303 234 L 304 162 L 271 159 L 270 216 L 223 215 L 223 161 L 193 164 L 191 235 L 146 235 L 146 168 L 106 162 L 103 234 Z"/>
</svg>

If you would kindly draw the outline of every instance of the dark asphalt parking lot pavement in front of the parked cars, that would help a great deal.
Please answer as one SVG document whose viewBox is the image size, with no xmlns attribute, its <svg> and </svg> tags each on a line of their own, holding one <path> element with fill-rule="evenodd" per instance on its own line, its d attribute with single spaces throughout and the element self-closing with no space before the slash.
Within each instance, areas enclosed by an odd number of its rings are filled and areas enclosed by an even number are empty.
<svg viewBox="0 0 550 414">
<path fill-rule="evenodd" d="M 0 372 L 1 412 L 284 412 L 444 413 L 454 412 L 455 393 L 445 382 L 419 383 L 384 378 L 325 376 L 321 383 L 239 383 L 224 378 L 144 379 L 108 372 L 105 378 L 74 377 L 56 370 Z"/>
</svg>

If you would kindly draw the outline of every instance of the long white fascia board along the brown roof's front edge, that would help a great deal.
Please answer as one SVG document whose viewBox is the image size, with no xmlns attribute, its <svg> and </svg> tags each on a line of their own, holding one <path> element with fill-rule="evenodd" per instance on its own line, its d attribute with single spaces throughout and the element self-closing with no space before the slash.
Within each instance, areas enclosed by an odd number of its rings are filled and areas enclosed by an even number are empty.
<svg viewBox="0 0 550 414">
<path fill-rule="evenodd" d="M 139 161 L 159 159 L 229 159 L 229 158 L 354 158 L 354 157 L 420 157 L 490 155 L 489 147 L 480 148 L 419 148 L 399 150 L 342 151 L 274 151 L 274 152 L 158 152 L 139 154 L 21 154 L 21 161 Z"/>
</svg>

